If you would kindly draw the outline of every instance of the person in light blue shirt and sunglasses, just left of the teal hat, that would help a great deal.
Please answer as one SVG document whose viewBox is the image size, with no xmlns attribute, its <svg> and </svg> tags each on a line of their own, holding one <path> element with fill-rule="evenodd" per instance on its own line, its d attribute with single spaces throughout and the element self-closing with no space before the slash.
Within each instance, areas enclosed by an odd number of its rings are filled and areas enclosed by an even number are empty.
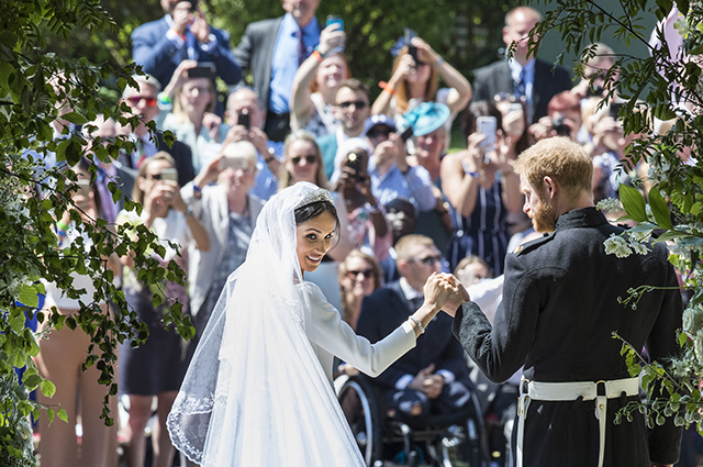
<svg viewBox="0 0 703 467">
<path fill-rule="evenodd" d="M 393 119 L 382 113 L 369 116 L 364 123 L 364 135 L 373 147 L 369 176 L 378 201 L 386 204 L 406 198 L 416 210 L 434 209 L 436 200 L 429 174 L 421 166 L 408 165 L 405 142 L 397 133 Z"/>
</svg>

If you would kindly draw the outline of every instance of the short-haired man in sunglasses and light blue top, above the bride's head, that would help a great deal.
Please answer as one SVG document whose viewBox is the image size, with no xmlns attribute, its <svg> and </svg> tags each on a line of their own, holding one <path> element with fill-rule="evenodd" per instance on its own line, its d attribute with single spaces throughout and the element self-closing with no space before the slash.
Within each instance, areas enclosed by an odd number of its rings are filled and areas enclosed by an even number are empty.
<svg viewBox="0 0 703 467">
<path fill-rule="evenodd" d="M 334 107 L 334 116 L 339 121 L 339 126 L 336 133 L 316 140 L 327 178 L 332 179 L 332 174 L 339 170 L 339 167 L 335 167 L 337 147 L 350 137 L 361 136 L 364 122 L 370 113 L 369 87 L 355 78 L 342 81 Z"/>
</svg>

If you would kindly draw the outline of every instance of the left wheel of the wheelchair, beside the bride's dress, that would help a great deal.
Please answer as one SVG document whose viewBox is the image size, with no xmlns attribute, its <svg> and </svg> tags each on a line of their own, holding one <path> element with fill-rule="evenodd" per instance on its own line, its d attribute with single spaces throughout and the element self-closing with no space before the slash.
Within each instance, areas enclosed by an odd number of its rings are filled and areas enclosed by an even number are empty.
<svg viewBox="0 0 703 467">
<path fill-rule="evenodd" d="M 361 451 L 364 462 L 372 467 L 381 459 L 383 452 L 381 414 L 376 392 L 366 381 L 350 377 L 338 388 L 337 399 Z"/>
</svg>

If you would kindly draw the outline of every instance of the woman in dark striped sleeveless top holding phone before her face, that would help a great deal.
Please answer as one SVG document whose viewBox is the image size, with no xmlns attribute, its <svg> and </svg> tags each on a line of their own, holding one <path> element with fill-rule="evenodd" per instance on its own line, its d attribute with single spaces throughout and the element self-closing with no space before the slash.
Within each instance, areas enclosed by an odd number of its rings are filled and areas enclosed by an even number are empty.
<svg viewBox="0 0 703 467">
<path fill-rule="evenodd" d="M 479 126 L 479 119 L 492 125 Z M 492 102 L 473 102 L 464 119 L 468 148 L 442 160 L 442 191 L 451 204 L 454 232 L 447 259 L 453 269 L 468 255 L 489 264 L 493 276 L 503 273 L 510 231 L 509 213 L 522 207 L 520 181 L 513 173 L 515 156 L 501 129 L 502 115 Z M 488 133 L 490 134 L 488 134 Z M 493 140 L 487 145 L 487 140 Z"/>
</svg>

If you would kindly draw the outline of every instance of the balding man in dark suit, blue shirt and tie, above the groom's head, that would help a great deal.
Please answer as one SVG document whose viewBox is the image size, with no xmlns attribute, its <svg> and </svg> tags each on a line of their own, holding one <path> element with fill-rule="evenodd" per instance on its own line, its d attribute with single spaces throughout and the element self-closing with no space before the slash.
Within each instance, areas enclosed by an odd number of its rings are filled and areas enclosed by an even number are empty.
<svg viewBox="0 0 703 467">
<path fill-rule="evenodd" d="M 473 78 L 473 101 L 493 101 L 495 94 L 514 94 L 526 103 L 527 120 L 536 122 L 547 114 L 549 100 L 571 89 L 569 71 L 548 62 L 527 57 L 529 31 L 542 15 L 528 7 L 516 7 L 505 14 L 503 42 L 515 52 L 510 60 L 499 60 L 479 68 Z M 554 68 L 554 70 L 553 70 Z"/>
</svg>

